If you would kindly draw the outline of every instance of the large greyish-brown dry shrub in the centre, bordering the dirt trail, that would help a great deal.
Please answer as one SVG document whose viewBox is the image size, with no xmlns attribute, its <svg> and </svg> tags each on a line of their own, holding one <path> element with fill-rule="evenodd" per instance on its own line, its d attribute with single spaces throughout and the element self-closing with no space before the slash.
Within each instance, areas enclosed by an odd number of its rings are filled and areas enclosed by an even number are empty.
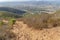
<svg viewBox="0 0 60 40">
<path fill-rule="evenodd" d="M 50 15 L 47 13 L 43 14 L 30 14 L 24 16 L 24 23 L 28 24 L 30 27 L 35 29 L 48 28 L 47 20 L 50 18 Z"/>
</svg>

